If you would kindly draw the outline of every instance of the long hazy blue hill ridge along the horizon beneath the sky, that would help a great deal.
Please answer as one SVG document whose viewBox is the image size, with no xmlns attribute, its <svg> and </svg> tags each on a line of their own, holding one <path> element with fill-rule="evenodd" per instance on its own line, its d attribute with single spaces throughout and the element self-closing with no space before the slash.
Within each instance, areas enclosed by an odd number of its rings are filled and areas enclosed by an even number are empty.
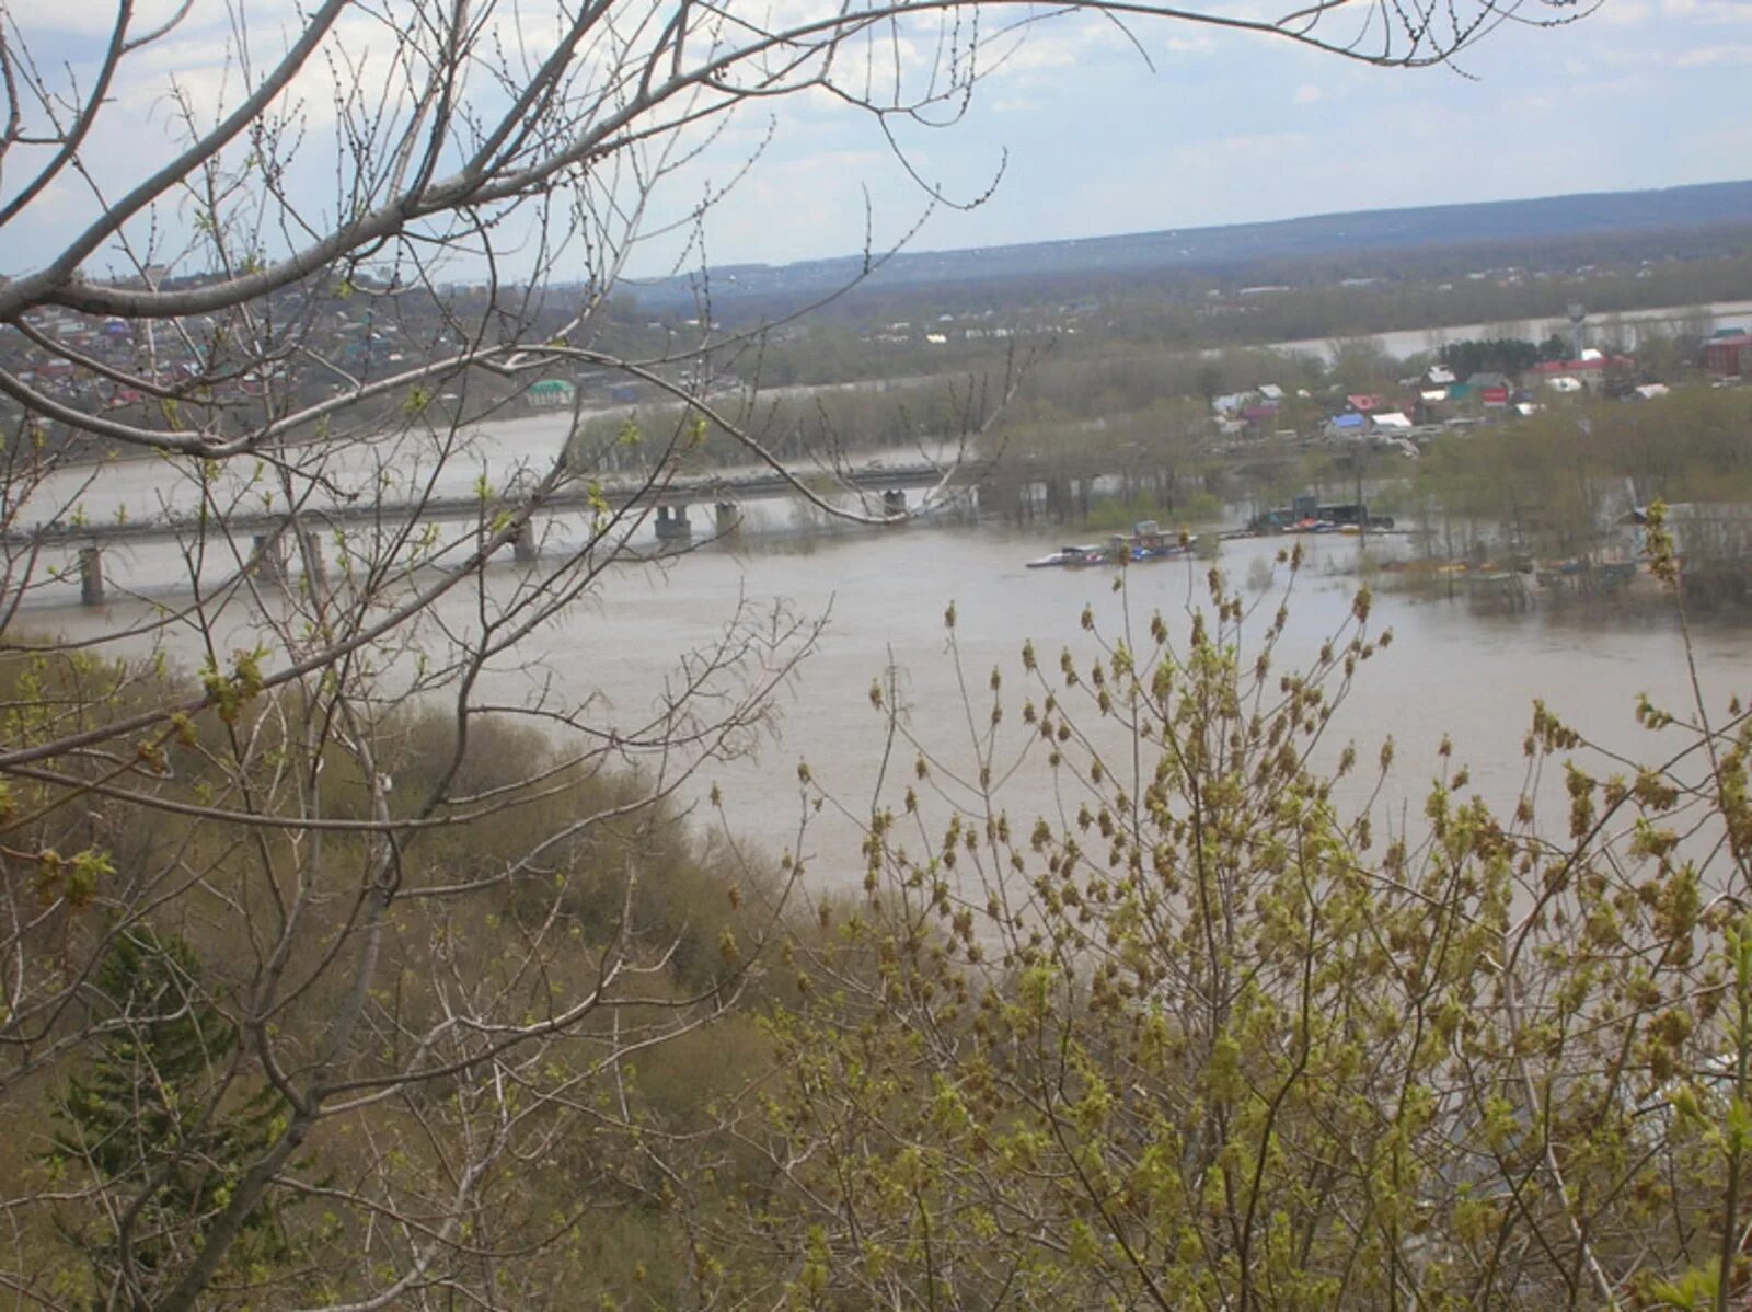
<svg viewBox="0 0 1752 1312">
<path fill-rule="evenodd" d="M 1330 261 L 1356 252 L 1414 252 L 1431 247 L 1501 247 L 1605 233 L 1656 233 L 1752 224 L 1752 182 L 1710 182 L 1663 191 L 1608 191 L 1540 200 L 1428 205 L 1407 210 L 1319 214 L 1279 222 L 1177 228 L 1074 242 L 902 252 L 860 287 L 895 293 L 925 286 L 1060 282 L 1114 275 L 1235 273 L 1289 261 Z M 727 265 L 711 270 L 715 307 L 764 303 L 767 310 L 825 296 L 857 279 L 862 257 L 797 265 Z M 645 284 L 648 308 L 696 300 L 690 279 Z"/>
</svg>

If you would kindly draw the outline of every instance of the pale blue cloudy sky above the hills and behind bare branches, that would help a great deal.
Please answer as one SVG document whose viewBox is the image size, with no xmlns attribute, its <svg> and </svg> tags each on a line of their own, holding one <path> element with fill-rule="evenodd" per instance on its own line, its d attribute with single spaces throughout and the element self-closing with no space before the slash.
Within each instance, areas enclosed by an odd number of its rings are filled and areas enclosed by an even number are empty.
<svg viewBox="0 0 1752 1312">
<path fill-rule="evenodd" d="M 543 2 L 554 4 L 517 0 Z M 760 0 L 792 12 L 808 2 Z M 170 0 L 144 4 L 151 12 Z M 221 0 L 194 0 L 173 39 L 117 84 L 114 112 L 86 151 L 107 196 L 163 158 L 173 130 L 168 79 L 212 109 L 237 86 L 240 19 L 258 49 L 284 40 L 293 0 L 235 4 L 228 12 Z M 42 67 L 75 72 L 103 47 L 105 9 L 0 4 Z M 382 0 L 377 26 L 349 30 L 350 53 L 378 58 L 366 60 L 361 84 L 380 89 L 382 16 L 406 21 L 417 9 Z M 1265 35 L 1170 21 L 1121 30 L 1090 16 L 1037 25 L 1006 49 L 958 123 L 899 124 L 904 166 L 867 114 L 815 93 L 769 102 L 673 179 L 648 226 L 685 214 L 760 142 L 755 166 L 704 228 L 715 265 L 843 256 L 908 233 L 913 250 L 960 249 L 1752 177 L 1752 0 L 1603 0 L 1558 28 L 1505 23 L 1452 68 L 1384 70 Z M 329 96 L 315 84 L 305 96 L 321 140 Z M 296 182 L 310 187 L 315 210 L 319 163 L 307 161 Z M 0 198 L 25 175 L 16 163 L 0 173 Z M 932 205 L 918 179 L 948 203 Z M 47 259 L 93 203 L 65 182 L 51 187 L 9 224 L 0 270 Z M 158 222 L 172 229 L 177 215 L 161 212 Z M 652 238 L 629 263 L 662 272 L 680 242 Z"/>
</svg>

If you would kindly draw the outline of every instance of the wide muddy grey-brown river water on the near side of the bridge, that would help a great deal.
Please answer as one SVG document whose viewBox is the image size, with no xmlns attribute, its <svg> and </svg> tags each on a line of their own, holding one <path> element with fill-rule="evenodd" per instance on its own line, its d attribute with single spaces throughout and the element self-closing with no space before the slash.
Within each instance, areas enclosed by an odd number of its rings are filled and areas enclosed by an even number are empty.
<svg viewBox="0 0 1752 1312">
<path fill-rule="evenodd" d="M 711 643 L 738 597 L 764 608 L 783 601 L 801 615 L 825 615 L 815 650 L 778 694 L 774 732 L 752 744 L 750 755 L 715 764 L 692 779 L 685 801 L 704 816 L 711 786 L 724 797 L 724 815 L 738 836 L 769 850 L 797 841 L 802 801 L 797 762 L 808 760 L 815 779 L 844 804 L 848 816 L 825 809 L 804 837 L 813 878 L 846 888 L 862 878 L 855 816 L 867 815 L 883 771 L 887 739 L 871 708 L 874 678 L 894 667 L 901 676 L 908 723 L 927 750 L 948 767 L 972 772 L 969 741 L 988 720 L 988 676 L 999 667 L 1014 690 L 1006 750 L 1020 741 L 1020 652 L 1034 639 L 1042 666 L 1056 669 L 1062 646 L 1081 664 L 1095 653 L 1079 627 L 1088 606 L 1097 631 L 1118 634 L 1130 613 L 1142 632 L 1151 610 L 1162 610 L 1170 632 L 1184 634 L 1188 604 L 1202 599 L 1204 562 L 1135 566 L 1125 594 L 1111 590 L 1106 569 L 1025 569 L 1023 562 L 1056 543 L 1039 534 L 995 527 L 906 526 L 787 545 L 743 550 L 706 547 L 668 564 L 624 564 L 610 569 L 594 597 L 569 610 L 522 650 L 527 669 L 503 669 L 498 695 L 520 695 L 536 680 L 552 678 L 578 697 L 597 694 L 604 722 L 638 722 L 676 676 L 689 650 Z M 1270 540 L 1225 543 L 1218 566 L 1261 601 L 1258 631 L 1275 608 L 1270 592 L 1249 590 L 1281 545 Z M 1303 659 L 1342 624 L 1356 587 L 1356 543 L 1319 540 L 1291 597 L 1289 653 Z M 508 589 L 519 568 L 494 566 L 492 587 Z M 944 611 L 957 610 L 957 643 L 971 690 L 948 653 Z M 117 601 L 105 610 L 35 604 L 25 624 L 93 638 L 145 617 L 149 601 Z M 1465 603 L 1381 596 L 1374 627 L 1391 627 L 1395 641 L 1365 666 L 1339 729 L 1354 736 L 1365 760 L 1391 734 L 1398 765 L 1389 794 L 1395 808 L 1417 815 L 1421 792 L 1437 769 L 1435 750 L 1451 734 L 1456 760 L 1472 765 L 1473 786 L 1508 808 L 1522 783 L 1521 743 L 1535 697 L 1572 723 L 1598 734 L 1614 750 L 1647 755 L 1652 743 L 1633 720 L 1638 694 L 1650 694 L 1684 711 L 1689 674 L 1685 648 L 1671 624 L 1584 625 L 1549 613 L 1479 617 Z M 1731 694 L 1752 694 L 1752 631 L 1705 627 L 1694 657 L 1713 708 Z M 971 729 L 972 725 L 972 729 Z M 1120 746 L 1111 737 L 1097 741 Z M 1337 743 L 1333 743 L 1333 750 Z M 890 762 L 890 801 L 911 783 L 915 753 Z M 1002 753 L 1000 753 L 1002 755 Z M 1021 823 L 1060 804 L 1055 776 L 1039 757 L 1016 771 L 1002 794 Z"/>
</svg>

